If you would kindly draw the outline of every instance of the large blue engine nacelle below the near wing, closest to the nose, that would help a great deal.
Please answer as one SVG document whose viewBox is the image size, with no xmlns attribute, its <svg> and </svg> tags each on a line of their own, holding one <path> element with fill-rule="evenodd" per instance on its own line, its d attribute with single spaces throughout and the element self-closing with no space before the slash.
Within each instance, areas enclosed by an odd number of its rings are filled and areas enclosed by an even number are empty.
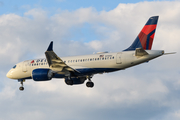
<svg viewBox="0 0 180 120">
<path fill-rule="evenodd" d="M 32 71 L 32 78 L 34 81 L 48 81 L 53 77 L 53 72 L 50 69 L 38 68 Z"/>
</svg>

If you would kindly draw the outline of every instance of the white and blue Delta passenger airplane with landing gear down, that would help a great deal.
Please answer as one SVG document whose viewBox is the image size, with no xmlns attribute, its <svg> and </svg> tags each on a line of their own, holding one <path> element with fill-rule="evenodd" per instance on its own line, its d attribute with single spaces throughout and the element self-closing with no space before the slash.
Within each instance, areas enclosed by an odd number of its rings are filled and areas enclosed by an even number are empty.
<svg viewBox="0 0 180 120">
<path fill-rule="evenodd" d="M 86 86 L 92 88 L 94 83 L 91 79 L 95 74 L 124 70 L 165 54 L 174 54 L 164 53 L 164 50 L 151 50 L 158 18 L 159 16 L 150 17 L 131 46 L 122 52 L 97 52 L 92 55 L 60 58 L 53 51 L 51 41 L 45 52 L 46 58 L 17 63 L 6 76 L 18 80 L 21 91 L 24 90 L 23 82 L 27 79 L 49 81 L 52 78 L 64 78 L 67 85 L 83 84 L 88 80 Z"/>
</svg>

